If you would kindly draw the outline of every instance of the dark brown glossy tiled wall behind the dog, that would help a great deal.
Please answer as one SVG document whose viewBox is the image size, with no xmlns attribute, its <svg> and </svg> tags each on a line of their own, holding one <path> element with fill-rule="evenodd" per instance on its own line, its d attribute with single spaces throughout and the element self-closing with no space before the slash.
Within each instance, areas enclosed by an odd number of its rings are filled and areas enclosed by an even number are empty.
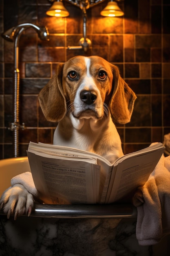
<svg viewBox="0 0 170 256">
<path fill-rule="evenodd" d="M 106 2 L 88 9 L 87 37 L 92 47 L 68 50 L 82 37 L 79 8 L 64 2 L 70 16 L 46 16 L 48 0 L 0 0 L 0 31 L 24 22 L 46 25 L 50 41 L 32 29 L 20 38 L 20 155 L 29 141 L 52 143 L 55 125 L 45 120 L 37 95 L 55 72 L 58 62 L 76 55 L 99 55 L 117 65 L 121 76 L 137 94 L 131 122 L 117 125 L 124 153 L 163 141 L 170 132 L 170 2 L 124 0 L 124 18 L 104 18 Z M 0 38 L 0 159 L 13 157 L 13 43 Z"/>
</svg>

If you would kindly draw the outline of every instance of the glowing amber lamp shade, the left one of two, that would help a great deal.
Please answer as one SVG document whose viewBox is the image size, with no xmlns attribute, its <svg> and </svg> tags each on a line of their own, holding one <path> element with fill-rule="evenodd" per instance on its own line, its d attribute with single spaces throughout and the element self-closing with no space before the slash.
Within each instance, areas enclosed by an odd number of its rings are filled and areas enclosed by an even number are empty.
<svg viewBox="0 0 170 256">
<path fill-rule="evenodd" d="M 46 11 L 46 14 L 49 16 L 55 16 L 55 17 L 67 17 L 69 15 L 69 12 L 64 7 L 62 2 L 55 1 L 51 8 Z"/>
</svg>

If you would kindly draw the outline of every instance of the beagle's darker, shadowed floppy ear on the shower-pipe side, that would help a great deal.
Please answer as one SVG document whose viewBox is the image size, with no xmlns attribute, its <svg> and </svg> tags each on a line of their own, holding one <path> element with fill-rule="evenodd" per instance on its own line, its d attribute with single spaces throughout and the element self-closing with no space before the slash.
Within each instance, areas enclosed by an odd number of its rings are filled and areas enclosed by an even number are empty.
<svg viewBox="0 0 170 256">
<path fill-rule="evenodd" d="M 51 122 L 62 120 L 66 114 L 66 99 L 62 89 L 63 66 L 61 63 L 57 65 L 55 75 L 38 95 L 42 112 Z"/>
</svg>

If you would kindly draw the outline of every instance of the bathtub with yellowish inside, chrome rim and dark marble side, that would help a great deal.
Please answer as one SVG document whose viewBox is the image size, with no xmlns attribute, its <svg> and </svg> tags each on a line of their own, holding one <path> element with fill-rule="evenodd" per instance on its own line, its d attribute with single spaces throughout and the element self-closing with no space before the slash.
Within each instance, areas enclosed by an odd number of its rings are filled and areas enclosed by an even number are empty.
<svg viewBox="0 0 170 256">
<path fill-rule="evenodd" d="M 0 195 L 10 186 L 11 178 L 24 171 L 30 171 L 27 157 L 0 160 Z M 167 255 L 163 254 L 165 241 L 163 246 L 138 245 L 136 216 L 130 204 L 35 204 L 30 217 L 20 216 L 15 221 L 13 216 L 7 220 L 1 210 L 0 255 Z"/>
</svg>

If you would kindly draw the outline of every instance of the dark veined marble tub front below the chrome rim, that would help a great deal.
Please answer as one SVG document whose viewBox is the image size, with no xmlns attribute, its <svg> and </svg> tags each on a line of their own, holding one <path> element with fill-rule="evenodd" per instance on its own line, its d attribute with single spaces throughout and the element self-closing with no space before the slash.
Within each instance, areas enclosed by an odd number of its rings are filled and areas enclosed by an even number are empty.
<svg viewBox="0 0 170 256">
<path fill-rule="evenodd" d="M 0 218 L 1 256 L 151 256 L 138 245 L 135 219 Z"/>
</svg>

